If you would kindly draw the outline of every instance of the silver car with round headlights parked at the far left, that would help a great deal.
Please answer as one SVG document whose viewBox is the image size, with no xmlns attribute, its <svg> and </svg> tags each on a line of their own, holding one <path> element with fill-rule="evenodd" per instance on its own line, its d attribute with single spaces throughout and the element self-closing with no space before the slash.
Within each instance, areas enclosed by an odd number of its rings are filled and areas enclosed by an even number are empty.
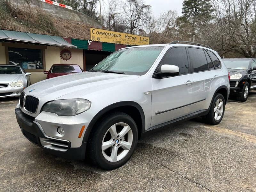
<svg viewBox="0 0 256 192">
<path fill-rule="evenodd" d="M 20 66 L 0 65 L 0 98 L 19 97 L 22 90 L 30 85 L 30 75 Z"/>
</svg>

